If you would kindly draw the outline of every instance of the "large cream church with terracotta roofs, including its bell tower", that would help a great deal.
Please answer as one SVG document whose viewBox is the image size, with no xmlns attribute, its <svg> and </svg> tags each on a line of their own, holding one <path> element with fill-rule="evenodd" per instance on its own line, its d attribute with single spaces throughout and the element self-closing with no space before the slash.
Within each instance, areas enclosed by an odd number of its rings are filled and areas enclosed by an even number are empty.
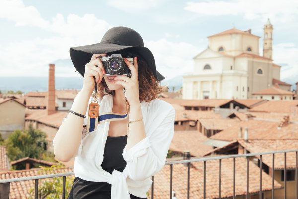
<svg viewBox="0 0 298 199">
<path fill-rule="evenodd" d="M 273 86 L 281 66 L 272 61 L 273 26 L 264 25 L 263 56 L 260 37 L 236 28 L 208 36 L 208 48 L 196 55 L 192 74 L 183 75 L 183 99 L 247 99 Z"/>
</svg>

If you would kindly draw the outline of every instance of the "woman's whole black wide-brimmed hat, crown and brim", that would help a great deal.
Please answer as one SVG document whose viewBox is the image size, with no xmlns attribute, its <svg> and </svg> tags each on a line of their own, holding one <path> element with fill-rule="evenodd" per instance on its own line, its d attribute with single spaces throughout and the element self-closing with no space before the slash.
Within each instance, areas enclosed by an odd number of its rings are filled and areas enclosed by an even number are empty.
<svg viewBox="0 0 298 199">
<path fill-rule="evenodd" d="M 135 50 L 147 62 L 149 69 L 157 80 L 165 77 L 156 70 L 155 59 L 152 52 L 144 46 L 142 37 L 138 32 L 127 27 L 113 27 L 102 37 L 100 43 L 70 48 L 70 55 L 74 67 L 84 77 L 85 65 L 90 62 L 93 54 L 112 53 L 119 50 Z"/>
</svg>

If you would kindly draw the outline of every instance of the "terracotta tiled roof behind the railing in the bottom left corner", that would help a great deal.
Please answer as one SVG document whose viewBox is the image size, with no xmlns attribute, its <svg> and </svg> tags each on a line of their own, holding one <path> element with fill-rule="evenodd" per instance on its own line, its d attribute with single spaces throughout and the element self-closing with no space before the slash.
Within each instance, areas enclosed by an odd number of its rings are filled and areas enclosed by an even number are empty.
<svg viewBox="0 0 298 199">
<path fill-rule="evenodd" d="M 54 169 L 54 173 L 65 173 L 73 172 L 70 168 L 58 168 Z M 42 171 L 40 168 L 33 168 L 28 170 L 18 170 L 18 171 L 3 171 L 0 172 L 0 179 L 11 179 L 27 176 L 38 176 L 51 174 L 49 171 Z M 51 178 L 50 178 L 51 179 Z M 39 184 L 42 184 L 45 180 L 49 179 L 40 179 Z M 9 199 L 27 199 L 29 195 L 29 190 L 34 189 L 35 180 L 20 181 L 10 183 L 10 193 Z"/>
</svg>

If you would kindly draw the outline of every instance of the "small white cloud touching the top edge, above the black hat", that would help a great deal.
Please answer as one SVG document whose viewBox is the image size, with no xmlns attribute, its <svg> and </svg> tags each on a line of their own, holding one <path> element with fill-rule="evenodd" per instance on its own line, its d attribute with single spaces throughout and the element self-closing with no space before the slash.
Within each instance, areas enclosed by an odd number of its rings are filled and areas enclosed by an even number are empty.
<svg viewBox="0 0 298 199">
<path fill-rule="evenodd" d="M 108 0 L 107 4 L 128 13 L 139 13 L 157 7 L 164 3 L 164 1 L 165 0 Z"/>
</svg>

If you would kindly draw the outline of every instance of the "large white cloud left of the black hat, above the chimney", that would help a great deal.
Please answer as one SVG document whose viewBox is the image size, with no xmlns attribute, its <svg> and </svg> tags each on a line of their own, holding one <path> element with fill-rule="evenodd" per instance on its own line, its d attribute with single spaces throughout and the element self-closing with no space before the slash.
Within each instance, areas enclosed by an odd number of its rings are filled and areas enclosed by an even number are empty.
<svg viewBox="0 0 298 199">
<path fill-rule="evenodd" d="M 14 21 L 16 25 L 36 26 L 58 33 L 48 38 L 38 37 L 1 45 L 1 76 L 47 76 L 50 62 L 70 58 L 70 47 L 99 43 L 104 33 L 112 27 L 93 14 L 82 17 L 70 14 L 66 19 L 62 14 L 57 14 L 47 21 L 35 7 L 26 7 L 20 0 L 1 0 L 0 18 Z M 66 76 L 70 74 L 65 73 Z"/>
</svg>

